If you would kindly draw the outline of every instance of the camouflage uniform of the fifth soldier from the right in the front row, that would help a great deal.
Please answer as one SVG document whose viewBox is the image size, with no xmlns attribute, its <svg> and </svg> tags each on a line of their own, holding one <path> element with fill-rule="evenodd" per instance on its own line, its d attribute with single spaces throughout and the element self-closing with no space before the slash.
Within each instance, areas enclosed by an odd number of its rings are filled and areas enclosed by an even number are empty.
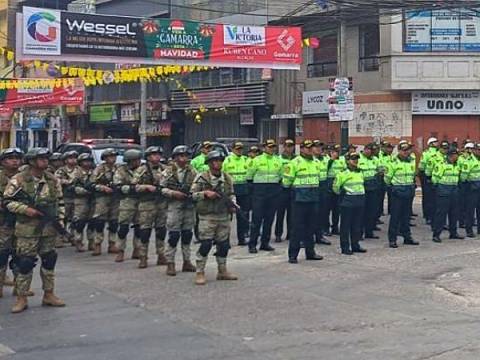
<svg viewBox="0 0 480 360">
<path fill-rule="evenodd" d="M 109 166 L 102 163 L 97 166 L 91 176 L 92 186 L 95 190 L 95 205 L 93 212 L 93 222 L 95 224 L 95 245 L 101 246 L 104 238 L 103 231 L 105 223 L 108 222 L 108 243 L 115 242 L 118 229 L 118 206 L 120 199 L 118 194 L 106 193 L 102 186 L 113 188 L 113 174 L 117 170 L 117 165 Z"/>
</svg>

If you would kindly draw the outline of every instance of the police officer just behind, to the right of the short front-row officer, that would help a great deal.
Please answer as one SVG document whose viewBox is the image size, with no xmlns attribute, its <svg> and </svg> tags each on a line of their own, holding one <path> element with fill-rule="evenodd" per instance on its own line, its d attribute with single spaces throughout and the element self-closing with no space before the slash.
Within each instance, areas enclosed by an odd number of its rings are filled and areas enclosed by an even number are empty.
<svg viewBox="0 0 480 360">
<path fill-rule="evenodd" d="M 376 144 L 370 143 L 360 154 L 358 168 L 363 173 L 365 186 L 365 211 L 363 212 L 363 226 L 365 239 L 378 239 L 373 233 L 378 215 L 378 162 L 374 156 Z"/>
</svg>

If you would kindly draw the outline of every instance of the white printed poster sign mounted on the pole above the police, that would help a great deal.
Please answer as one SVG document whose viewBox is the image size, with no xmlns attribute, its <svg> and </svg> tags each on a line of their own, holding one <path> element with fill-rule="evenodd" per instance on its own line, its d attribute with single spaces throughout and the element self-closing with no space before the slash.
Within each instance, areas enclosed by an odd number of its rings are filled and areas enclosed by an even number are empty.
<svg viewBox="0 0 480 360">
<path fill-rule="evenodd" d="M 328 118 L 330 121 L 353 120 L 355 104 L 353 101 L 352 78 L 330 79 L 328 103 Z"/>
</svg>

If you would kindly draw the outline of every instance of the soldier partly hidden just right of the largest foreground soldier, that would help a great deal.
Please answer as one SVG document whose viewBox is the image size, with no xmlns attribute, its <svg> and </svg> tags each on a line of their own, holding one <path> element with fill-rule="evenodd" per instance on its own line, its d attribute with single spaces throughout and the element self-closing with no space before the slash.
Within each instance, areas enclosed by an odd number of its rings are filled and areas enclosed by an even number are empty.
<svg viewBox="0 0 480 360">
<path fill-rule="evenodd" d="M 65 227 L 71 227 L 71 222 L 73 220 L 75 197 L 73 183 L 75 181 L 75 172 L 77 170 L 77 157 L 78 153 L 75 150 L 64 153 L 62 155 L 62 160 L 65 165 L 55 172 L 55 177 L 60 180 L 63 189 L 63 199 L 65 201 Z M 64 239 L 64 241 L 65 240 L 66 239 Z"/>
</svg>

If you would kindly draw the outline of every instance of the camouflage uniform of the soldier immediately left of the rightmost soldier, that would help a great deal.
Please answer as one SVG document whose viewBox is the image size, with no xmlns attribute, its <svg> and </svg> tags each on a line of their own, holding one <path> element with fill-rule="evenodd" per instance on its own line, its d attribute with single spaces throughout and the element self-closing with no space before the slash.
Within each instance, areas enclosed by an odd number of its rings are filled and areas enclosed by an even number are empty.
<svg viewBox="0 0 480 360">
<path fill-rule="evenodd" d="M 189 191 L 195 170 L 186 165 L 183 169 L 175 163 L 169 165 L 162 174 L 160 186 L 162 194 L 168 198 L 167 230 L 168 245 L 165 257 L 169 264 L 175 263 L 175 252 L 181 238 L 183 261 L 190 262 L 190 244 L 193 237 L 193 203 L 191 199 L 176 200 L 173 197 L 175 191 Z"/>
</svg>

